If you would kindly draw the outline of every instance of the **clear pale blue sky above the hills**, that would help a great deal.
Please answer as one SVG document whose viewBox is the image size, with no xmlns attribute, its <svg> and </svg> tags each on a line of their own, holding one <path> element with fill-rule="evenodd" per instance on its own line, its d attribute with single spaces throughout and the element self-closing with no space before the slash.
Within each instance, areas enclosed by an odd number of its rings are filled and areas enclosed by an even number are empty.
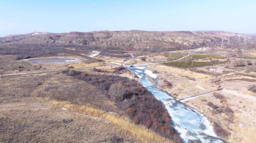
<svg viewBox="0 0 256 143">
<path fill-rule="evenodd" d="M 0 0 L 0 36 L 134 29 L 256 33 L 256 0 Z"/>
</svg>

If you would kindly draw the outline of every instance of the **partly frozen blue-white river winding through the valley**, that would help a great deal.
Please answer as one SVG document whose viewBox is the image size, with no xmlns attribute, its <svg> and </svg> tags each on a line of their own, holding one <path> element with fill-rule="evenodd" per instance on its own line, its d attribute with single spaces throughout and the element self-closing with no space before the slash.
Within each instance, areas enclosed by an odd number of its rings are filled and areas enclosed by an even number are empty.
<svg viewBox="0 0 256 143">
<path fill-rule="evenodd" d="M 206 117 L 195 109 L 188 107 L 180 101 L 176 101 L 171 95 L 156 88 L 147 78 L 152 76 L 147 72 L 146 67 L 131 67 L 137 76 L 140 77 L 140 83 L 143 85 L 156 99 L 162 101 L 172 118 L 171 124 L 180 134 L 185 143 L 224 143 L 213 131 L 213 127 Z M 155 76 L 155 75 L 153 75 Z M 168 106 L 165 103 L 173 101 Z"/>
</svg>

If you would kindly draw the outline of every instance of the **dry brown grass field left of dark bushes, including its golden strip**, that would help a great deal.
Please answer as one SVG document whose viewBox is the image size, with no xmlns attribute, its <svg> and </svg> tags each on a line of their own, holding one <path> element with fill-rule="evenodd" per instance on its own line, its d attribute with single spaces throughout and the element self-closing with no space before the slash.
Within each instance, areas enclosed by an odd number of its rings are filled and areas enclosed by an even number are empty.
<svg viewBox="0 0 256 143">
<path fill-rule="evenodd" d="M 135 124 L 102 90 L 72 76 L 7 76 L 0 92 L 1 142 L 173 142 Z"/>
</svg>

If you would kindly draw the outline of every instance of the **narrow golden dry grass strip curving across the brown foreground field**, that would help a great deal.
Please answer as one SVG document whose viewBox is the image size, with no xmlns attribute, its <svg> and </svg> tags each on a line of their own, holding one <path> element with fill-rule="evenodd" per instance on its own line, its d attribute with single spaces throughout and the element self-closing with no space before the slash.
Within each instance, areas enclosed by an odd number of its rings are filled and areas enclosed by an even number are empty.
<svg viewBox="0 0 256 143">
<path fill-rule="evenodd" d="M 160 136 L 159 134 L 144 126 L 136 125 L 132 123 L 129 119 L 109 114 L 107 112 L 102 111 L 101 109 L 91 108 L 85 105 L 70 104 L 65 101 L 49 100 L 48 102 L 54 105 L 60 105 L 63 108 L 72 109 L 76 112 L 83 112 L 85 114 L 104 118 L 110 121 L 111 123 L 119 125 L 125 130 L 131 132 L 132 135 L 134 135 L 137 139 L 141 140 L 144 143 L 173 143 L 173 141 Z"/>
</svg>

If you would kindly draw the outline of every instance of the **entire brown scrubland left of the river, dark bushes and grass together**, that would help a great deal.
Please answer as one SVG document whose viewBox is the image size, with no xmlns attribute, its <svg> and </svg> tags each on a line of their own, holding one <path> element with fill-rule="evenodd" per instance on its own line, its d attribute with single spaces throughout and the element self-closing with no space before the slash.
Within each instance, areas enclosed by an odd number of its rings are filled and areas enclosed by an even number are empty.
<svg viewBox="0 0 256 143">
<path fill-rule="evenodd" d="M 86 74 L 76 71 L 71 74 L 70 72 L 43 73 L 8 76 L 1 79 L 0 106 L 3 108 L 0 114 L 3 121 L 1 126 L 4 130 L 1 130 L 3 134 L 0 140 L 19 142 L 22 140 L 21 137 L 25 136 L 24 142 L 30 140 L 30 137 L 34 137 L 37 142 L 44 142 L 46 137 L 51 136 L 48 139 L 52 142 L 181 142 L 179 135 L 170 124 L 171 118 L 166 114 L 162 103 L 153 98 L 136 81 L 129 81 L 120 76 L 92 74 L 93 71 L 86 72 Z M 76 75 L 77 73 L 79 76 Z M 110 86 L 116 82 L 126 86 L 125 99 L 120 101 L 113 100 L 108 93 Z M 40 112 L 43 110 L 41 107 L 33 107 L 39 106 L 39 102 L 43 109 L 47 107 L 47 110 Z M 9 112 L 7 107 L 19 108 L 17 103 L 26 105 L 25 111 L 20 108 L 15 112 Z M 34 113 L 34 108 L 39 109 Z M 156 108 L 157 110 L 153 110 Z M 49 110 L 51 114 L 47 115 Z M 19 114 L 16 114 L 17 112 Z M 65 114 L 67 112 L 68 115 Z M 61 118 L 55 117 L 59 114 Z M 71 118 L 73 114 L 76 116 Z M 45 116 L 47 120 L 43 118 Z M 84 116 L 83 120 L 79 120 Z M 22 120 L 16 123 L 18 117 Z M 35 122 L 35 120 L 40 121 Z M 32 123 L 33 125 L 30 125 Z M 15 125 L 23 125 L 23 129 Z M 112 127 L 109 127 L 110 125 Z M 51 127 L 51 130 L 47 128 L 42 130 L 44 126 Z M 86 130 L 87 126 L 90 130 Z M 9 132 L 6 131 L 7 128 L 13 130 Z M 46 130 L 47 133 L 41 133 Z M 68 130 L 78 131 L 77 134 L 72 134 Z M 67 137 L 65 141 L 62 140 L 63 136 Z"/>
</svg>

